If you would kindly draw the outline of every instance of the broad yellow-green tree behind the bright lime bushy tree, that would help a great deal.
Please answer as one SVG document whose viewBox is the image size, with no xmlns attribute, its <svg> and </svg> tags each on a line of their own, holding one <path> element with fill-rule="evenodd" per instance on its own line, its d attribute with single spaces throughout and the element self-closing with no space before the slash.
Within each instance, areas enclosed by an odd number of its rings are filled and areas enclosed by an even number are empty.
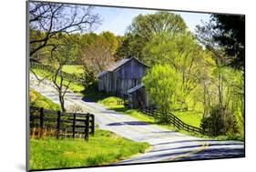
<svg viewBox="0 0 256 172">
<path fill-rule="evenodd" d="M 193 35 L 165 32 L 154 35 L 143 48 L 144 63 L 149 66 L 169 64 L 180 75 L 183 95 L 179 96 L 184 106 L 186 98 L 199 84 L 199 75 L 204 62 L 204 52 L 196 44 Z"/>
</svg>

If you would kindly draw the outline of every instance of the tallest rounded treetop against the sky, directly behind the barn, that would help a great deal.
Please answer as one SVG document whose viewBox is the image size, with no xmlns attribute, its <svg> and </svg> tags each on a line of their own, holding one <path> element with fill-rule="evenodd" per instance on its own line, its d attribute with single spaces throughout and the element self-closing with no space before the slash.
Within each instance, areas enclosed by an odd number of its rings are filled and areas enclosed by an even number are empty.
<svg viewBox="0 0 256 172">
<path fill-rule="evenodd" d="M 173 35 L 186 32 L 187 25 L 180 15 L 169 12 L 157 12 L 150 15 L 136 16 L 128 26 L 128 32 L 120 52 L 123 56 L 137 56 L 143 59 L 141 51 L 155 34 L 169 32 Z"/>
</svg>

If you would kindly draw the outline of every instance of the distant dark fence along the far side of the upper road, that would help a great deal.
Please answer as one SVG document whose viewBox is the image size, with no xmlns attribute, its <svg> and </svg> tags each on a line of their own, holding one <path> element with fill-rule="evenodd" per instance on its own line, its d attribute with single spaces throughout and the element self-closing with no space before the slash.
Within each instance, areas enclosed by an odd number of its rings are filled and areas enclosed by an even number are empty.
<svg viewBox="0 0 256 172">
<path fill-rule="evenodd" d="M 36 62 L 30 62 L 30 68 L 46 70 L 51 73 L 53 73 L 56 70 L 52 66 L 46 66 L 46 65 L 36 63 Z M 69 74 L 64 71 L 61 72 L 61 75 L 70 82 L 77 83 L 79 85 L 83 85 L 83 77 L 76 76 L 75 74 Z"/>
</svg>

